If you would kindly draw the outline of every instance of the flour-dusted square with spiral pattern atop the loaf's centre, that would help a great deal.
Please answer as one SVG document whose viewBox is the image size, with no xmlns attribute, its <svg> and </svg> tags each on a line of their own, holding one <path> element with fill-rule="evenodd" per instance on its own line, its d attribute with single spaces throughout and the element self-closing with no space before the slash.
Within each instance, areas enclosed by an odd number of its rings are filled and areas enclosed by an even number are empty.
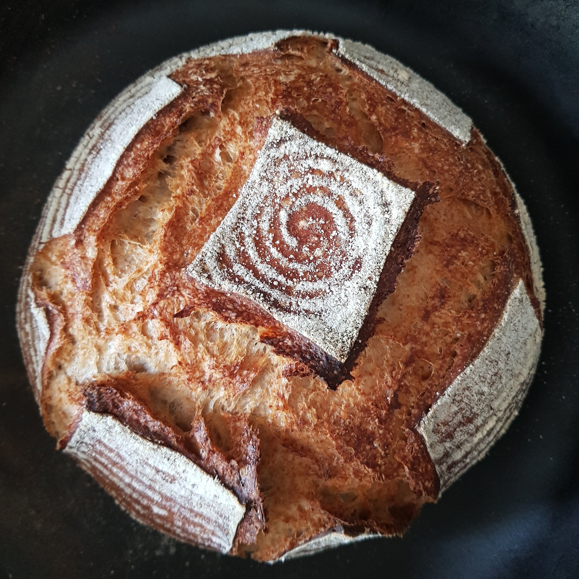
<svg viewBox="0 0 579 579">
<path fill-rule="evenodd" d="M 344 362 L 412 190 L 275 117 L 190 276 L 250 298 Z"/>
</svg>

